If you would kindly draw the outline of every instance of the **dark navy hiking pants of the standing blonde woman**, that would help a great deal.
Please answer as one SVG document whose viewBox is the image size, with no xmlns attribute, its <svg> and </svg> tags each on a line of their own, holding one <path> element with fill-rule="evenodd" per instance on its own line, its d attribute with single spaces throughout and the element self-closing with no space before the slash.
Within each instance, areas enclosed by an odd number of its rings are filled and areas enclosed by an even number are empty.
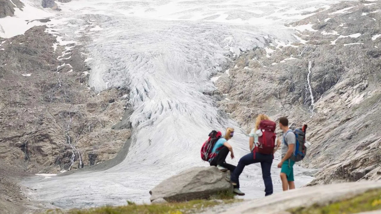
<svg viewBox="0 0 381 214">
<path fill-rule="evenodd" d="M 273 155 L 263 155 L 258 152 L 251 152 L 245 156 L 243 156 L 239 162 L 237 167 L 232 172 L 231 181 L 237 183 L 237 188 L 239 188 L 239 176 L 243 171 L 243 168 L 249 164 L 253 163 L 261 163 L 262 168 L 262 177 L 265 186 L 265 196 L 272 194 L 272 180 L 271 180 L 271 164 L 272 164 Z"/>
</svg>

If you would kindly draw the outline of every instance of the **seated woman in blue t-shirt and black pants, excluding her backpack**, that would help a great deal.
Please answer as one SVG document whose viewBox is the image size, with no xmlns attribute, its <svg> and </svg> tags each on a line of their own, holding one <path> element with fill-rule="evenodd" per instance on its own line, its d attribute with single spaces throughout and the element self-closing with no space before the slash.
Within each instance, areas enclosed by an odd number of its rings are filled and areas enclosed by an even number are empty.
<svg viewBox="0 0 381 214">
<path fill-rule="evenodd" d="M 230 172 L 234 171 L 235 166 L 232 164 L 226 163 L 225 159 L 227 155 L 230 152 L 230 157 L 234 158 L 233 148 L 232 146 L 227 142 L 229 139 L 231 139 L 234 135 L 234 129 L 233 128 L 226 128 L 225 137 L 221 137 L 218 139 L 218 141 L 215 143 L 212 153 L 217 153 L 217 156 L 211 160 L 209 160 L 210 166 L 217 166 L 217 168 L 223 172 L 226 172 L 229 170 Z"/>
</svg>

